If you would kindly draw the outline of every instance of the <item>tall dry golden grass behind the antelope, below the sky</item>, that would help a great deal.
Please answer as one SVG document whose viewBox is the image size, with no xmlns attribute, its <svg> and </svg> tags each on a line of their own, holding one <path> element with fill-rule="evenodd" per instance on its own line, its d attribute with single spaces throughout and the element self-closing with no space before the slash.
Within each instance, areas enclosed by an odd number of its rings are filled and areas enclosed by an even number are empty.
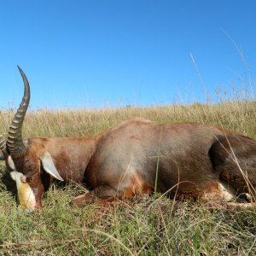
<svg viewBox="0 0 256 256">
<path fill-rule="evenodd" d="M 199 122 L 218 125 L 247 136 L 255 136 L 256 102 L 223 102 L 221 104 L 195 103 L 189 106 L 103 109 L 40 109 L 26 113 L 24 137 L 92 136 L 108 129 L 114 123 L 133 117 L 151 119 L 160 123 Z M 4 135 L 15 112 L 0 111 L 0 132 Z"/>
</svg>

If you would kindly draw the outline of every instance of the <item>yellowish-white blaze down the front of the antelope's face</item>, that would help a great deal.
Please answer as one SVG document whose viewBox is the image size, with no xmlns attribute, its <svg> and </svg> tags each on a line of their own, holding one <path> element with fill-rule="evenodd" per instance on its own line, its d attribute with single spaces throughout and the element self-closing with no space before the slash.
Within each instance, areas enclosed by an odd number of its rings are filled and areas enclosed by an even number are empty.
<svg viewBox="0 0 256 256">
<path fill-rule="evenodd" d="M 36 205 L 36 197 L 30 185 L 26 182 L 26 176 L 21 172 L 10 172 L 10 176 L 16 182 L 20 208 L 25 212 L 32 212 Z"/>
</svg>

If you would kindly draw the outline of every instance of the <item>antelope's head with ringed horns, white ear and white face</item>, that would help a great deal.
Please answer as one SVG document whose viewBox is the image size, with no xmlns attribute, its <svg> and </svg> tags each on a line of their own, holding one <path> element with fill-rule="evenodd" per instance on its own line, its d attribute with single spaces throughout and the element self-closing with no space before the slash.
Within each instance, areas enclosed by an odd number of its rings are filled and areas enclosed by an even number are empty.
<svg viewBox="0 0 256 256">
<path fill-rule="evenodd" d="M 7 140 L 0 135 L 0 159 L 6 161 L 10 177 L 15 180 L 20 208 L 32 212 L 36 207 L 42 207 L 45 172 L 59 180 L 63 179 L 56 171 L 49 152 L 44 149 L 44 144 L 35 145 L 32 139 L 22 138 L 23 120 L 30 101 L 30 87 L 25 73 L 18 68 L 24 82 L 24 96 L 9 127 Z"/>
</svg>

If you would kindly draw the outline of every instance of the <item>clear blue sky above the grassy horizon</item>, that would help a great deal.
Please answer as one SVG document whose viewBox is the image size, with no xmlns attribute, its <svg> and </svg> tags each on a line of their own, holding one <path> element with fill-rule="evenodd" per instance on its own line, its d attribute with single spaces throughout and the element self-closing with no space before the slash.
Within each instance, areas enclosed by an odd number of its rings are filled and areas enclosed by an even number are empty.
<svg viewBox="0 0 256 256">
<path fill-rule="evenodd" d="M 0 109 L 20 103 L 17 64 L 31 108 L 216 101 L 233 86 L 250 96 L 255 11 L 253 0 L 1 1 Z"/>
</svg>

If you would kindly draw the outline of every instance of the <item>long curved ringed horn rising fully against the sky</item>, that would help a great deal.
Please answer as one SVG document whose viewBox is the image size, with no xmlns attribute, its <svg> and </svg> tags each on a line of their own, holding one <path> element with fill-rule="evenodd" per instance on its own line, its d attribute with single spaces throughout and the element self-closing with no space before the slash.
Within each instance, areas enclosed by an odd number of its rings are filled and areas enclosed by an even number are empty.
<svg viewBox="0 0 256 256">
<path fill-rule="evenodd" d="M 25 73 L 21 70 L 19 66 L 21 77 L 24 82 L 24 95 L 22 98 L 22 102 L 20 103 L 20 108 L 18 108 L 17 112 L 15 113 L 15 117 L 12 120 L 12 124 L 9 127 L 9 133 L 7 138 L 7 150 L 9 154 L 22 154 L 23 151 L 26 149 L 25 144 L 23 143 L 21 131 L 22 131 L 22 125 L 23 120 L 26 115 L 26 109 L 29 104 L 30 100 L 30 88 L 28 81 L 26 79 Z"/>
</svg>

